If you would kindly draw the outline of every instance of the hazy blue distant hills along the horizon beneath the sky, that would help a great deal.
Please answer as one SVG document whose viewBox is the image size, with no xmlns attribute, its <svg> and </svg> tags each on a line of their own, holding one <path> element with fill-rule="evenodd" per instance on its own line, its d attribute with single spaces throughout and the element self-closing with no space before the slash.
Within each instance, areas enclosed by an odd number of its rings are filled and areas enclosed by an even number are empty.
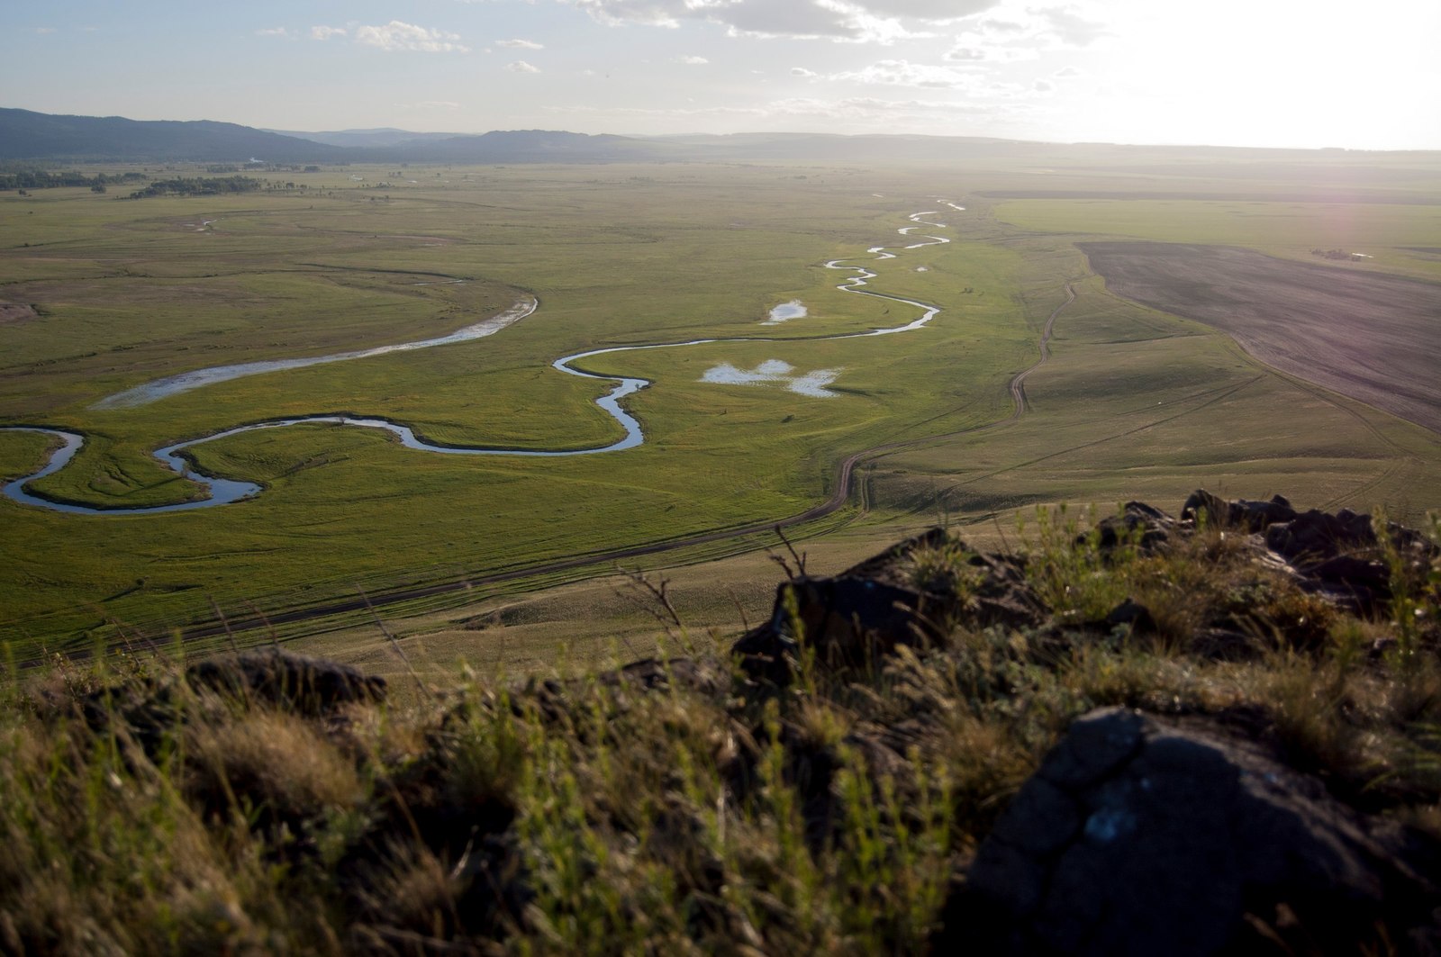
<svg viewBox="0 0 1441 957">
<path fill-rule="evenodd" d="M 0 163 L 16 161 L 203 161 L 203 163 L 615 163 L 663 160 L 857 160 L 895 159 L 1146 163 L 1174 174 L 1190 161 L 1208 174 L 1241 177 L 1248 163 L 1308 163 L 1346 157 L 1329 150 L 1233 147 L 1053 144 L 986 137 L 839 135 L 745 133 L 732 135 L 621 137 L 553 130 L 493 131 L 478 135 L 406 130 L 297 133 L 255 130 L 233 123 L 140 121 L 122 117 L 65 117 L 0 108 Z M 1375 154 L 1356 154 L 1359 161 Z M 1396 154 L 1392 154 L 1396 156 Z M 1424 154 L 1414 154 L 1424 156 Z M 1435 156 L 1435 154 L 1429 154 Z M 1141 164 L 1141 166 L 1138 166 Z M 1274 169 L 1272 169 L 1274 172 Z"/>
</svg>

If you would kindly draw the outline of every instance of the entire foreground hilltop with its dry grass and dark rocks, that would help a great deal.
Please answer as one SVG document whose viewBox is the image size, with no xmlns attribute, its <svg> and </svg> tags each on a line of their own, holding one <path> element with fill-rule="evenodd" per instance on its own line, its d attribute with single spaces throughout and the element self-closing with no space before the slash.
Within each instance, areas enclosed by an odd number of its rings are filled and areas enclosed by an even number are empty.
<svg viewBox="0 0 1441 957">
<path fill-rule="evenodd" d="M 58 662 L 0 711 L 0 941 L 1434 953 L 1438 532 L 1197 491 L 793 551 L 729 653 L 657 588 L 669 651 L 418 692 Z"/>
</svg>

